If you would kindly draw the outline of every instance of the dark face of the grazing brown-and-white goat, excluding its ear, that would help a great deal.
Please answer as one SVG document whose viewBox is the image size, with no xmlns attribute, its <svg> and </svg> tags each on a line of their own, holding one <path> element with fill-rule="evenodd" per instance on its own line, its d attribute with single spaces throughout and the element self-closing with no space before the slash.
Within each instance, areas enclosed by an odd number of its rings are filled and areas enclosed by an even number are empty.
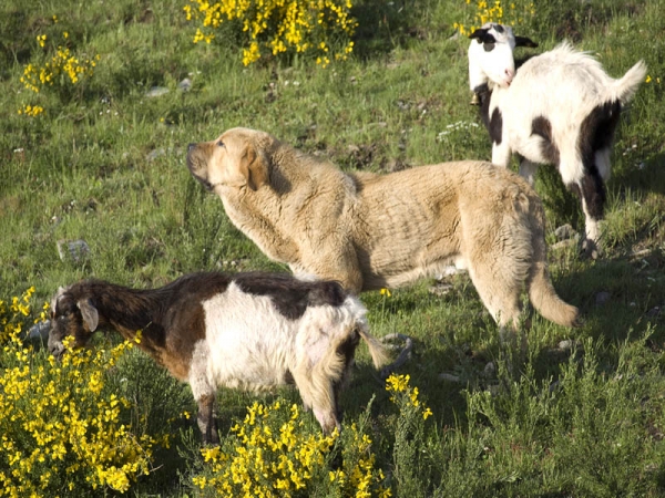
<svg viewBox="0 0 665 498">
<path fill-rule="evenodd" d="M 81 308 L 65 293 L 59 293 L 51 304 L 51 330 L 49 331 L 49 352 L 60 357 L 64 353 L 62 341 L 68 335 L 74 338 L 74 346 L 84 346 L 92 331 L 89 330 Z"/>
</svg>

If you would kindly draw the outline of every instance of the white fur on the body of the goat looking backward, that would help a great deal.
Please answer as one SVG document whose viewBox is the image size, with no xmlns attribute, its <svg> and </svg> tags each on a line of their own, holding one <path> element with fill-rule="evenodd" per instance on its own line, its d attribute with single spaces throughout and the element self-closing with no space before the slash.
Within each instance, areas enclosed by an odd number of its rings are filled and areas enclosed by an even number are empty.
<svg viewBox="0 0 665 498">
<path fill-rule="evenodd" d="M 598 61 L 567 43 L 530 59 L 510 86 L 493 87 L 490 115 L 499 108 L 504 129 L 502 143 L 493 147 L 492 162 L 508 166 L 511 153 L 516 152 L 532 163 L 549 164 L 541 152 L 542 137 L 531 131 L 533 118 L 544 116 L 552 124 L 553 143 L 561 154 L 564 184 L 577 181 L 584 174 L 576 146 L 580 125 L 598 104 L 632 96 L 633 92 L 627 95 L 623 90 L 625 85 L 617 84 L 621 82 L 610 77 Z M 610 162 L 601 160 L 597 166 L 607 180 Z"/>
</svg>

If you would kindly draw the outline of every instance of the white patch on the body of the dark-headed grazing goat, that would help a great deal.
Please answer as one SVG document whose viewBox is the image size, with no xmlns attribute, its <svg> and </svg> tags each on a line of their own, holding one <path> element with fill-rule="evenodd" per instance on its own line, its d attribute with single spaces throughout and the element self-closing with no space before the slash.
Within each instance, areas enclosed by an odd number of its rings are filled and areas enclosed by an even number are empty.
<svg viewBox="0 0 665 498">
<path fill-rule="evenodd" d="M 269 297 L 245 293 L 235 283 L 202 304 L 206 336 L 195 346 L 190 371 L 195 398 L 217 386 L 265 390 L 291 375 L 311 405 L 319 394 L 309 385 L 319 381 L 315 366 L 336 359 L 341 342 L 367 329 L 366 309 L 354 297 L 338 308 L 308 307 L 296 320 L 280 314 Z"/>
</svg>

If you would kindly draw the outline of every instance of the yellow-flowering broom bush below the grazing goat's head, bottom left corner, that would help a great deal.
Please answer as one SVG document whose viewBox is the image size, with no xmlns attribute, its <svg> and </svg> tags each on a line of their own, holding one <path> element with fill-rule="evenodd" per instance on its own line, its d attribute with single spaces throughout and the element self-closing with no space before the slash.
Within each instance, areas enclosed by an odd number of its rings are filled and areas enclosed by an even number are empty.
<svg viewBox="0 0 665 498">
<path fill-rule="evenodd" d="M 62 361 L 35 352 L 21 340 L 32 292 L 0 301 L 0 497 L 126 491 L 150 471 L 153 446 L 168 444 L 166 436 L 133 434 L 123 423 L 131 404 L 105 388 L 134 343 L 96 352 L 68 346 Z"/>
</svg>

